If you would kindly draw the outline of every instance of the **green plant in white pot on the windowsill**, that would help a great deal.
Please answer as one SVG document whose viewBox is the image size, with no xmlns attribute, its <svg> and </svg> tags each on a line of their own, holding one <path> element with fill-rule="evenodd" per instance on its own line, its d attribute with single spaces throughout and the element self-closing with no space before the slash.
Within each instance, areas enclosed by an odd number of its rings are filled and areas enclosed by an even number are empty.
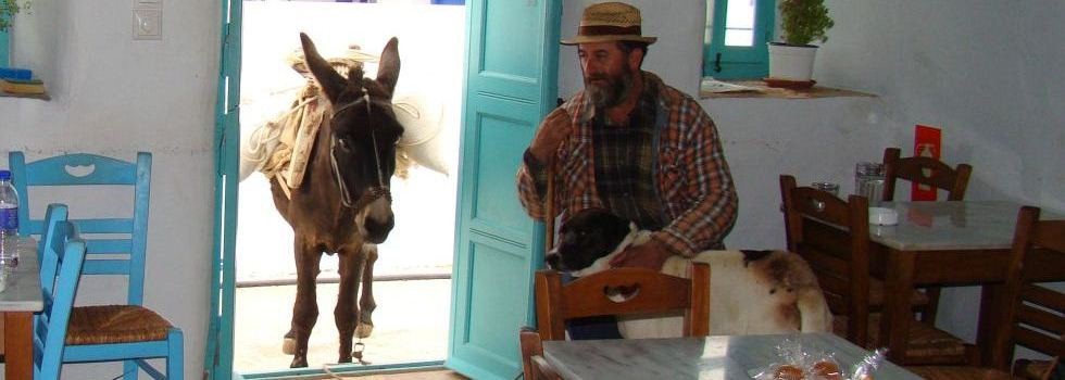
<svg viewBox="0 0 1065 380">
<path fill-rule="evenodd" d="M 769 42 L 769 78 L 812 85 L 817 46 L 810 43 L 828 40 L 832 17 L 824 0 L 780 0 L 779 9 L 784 42 Z"/>
</svg>

